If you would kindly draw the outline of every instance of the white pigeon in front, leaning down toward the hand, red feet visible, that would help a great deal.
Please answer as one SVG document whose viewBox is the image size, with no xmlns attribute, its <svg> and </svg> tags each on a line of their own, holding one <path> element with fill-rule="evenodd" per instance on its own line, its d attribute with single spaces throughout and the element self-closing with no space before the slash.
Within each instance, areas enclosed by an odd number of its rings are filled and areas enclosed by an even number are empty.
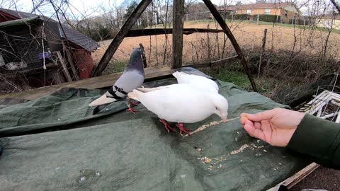
<svg viewBox="0 0 340 191">
<path fill-rule="evenodd" d="M 137 88 L 128 93 L 128 97 L 140 101 L 145 108 L 154 112 L 165 129 L 174 131 L 166 122 L 177 122 L 181 132 L 188 132 L 181 123 L 193 123 L 205 120 L 216 114 L 223 121 L 227 120 L 228 102 L 218 93 L 200 91 L 190 84 L 177 83 L 157 88 Z"/>
</svg>

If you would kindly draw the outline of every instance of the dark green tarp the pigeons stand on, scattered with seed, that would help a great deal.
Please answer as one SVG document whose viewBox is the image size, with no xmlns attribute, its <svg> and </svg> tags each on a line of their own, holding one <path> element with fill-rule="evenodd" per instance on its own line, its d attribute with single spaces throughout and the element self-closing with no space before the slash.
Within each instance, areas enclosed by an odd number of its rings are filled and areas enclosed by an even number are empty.
<svg viewBox="0 0 340 191">
<path fill-rule="evenodd" d="M 103 92 L 62 88 L 26 103 L 0 102 L 0 190 L 266 190 L 308 164 L 249 137 L 239 119 L 181 137 L 142 105 L 135 115 L 124 101 L 91 115 L 89 103 Z M 229 119 L 285 106 L 222 81 L 220 93 Z M 213 121 L 220 119 L 186 127 Z"/>
</svg>

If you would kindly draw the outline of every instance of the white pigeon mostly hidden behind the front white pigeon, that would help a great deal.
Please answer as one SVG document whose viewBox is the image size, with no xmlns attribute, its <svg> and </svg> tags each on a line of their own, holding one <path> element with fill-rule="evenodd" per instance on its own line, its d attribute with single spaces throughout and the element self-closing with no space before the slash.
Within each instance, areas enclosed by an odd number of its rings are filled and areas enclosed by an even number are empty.
<svg viewBox="0 0 340 191">
<path fill-rule="evenodd" d="M 201 91 L 210 91 L 218 93 L 219 88 L 215 81 L 208 79 L 204 76 L 198 76 L 195 74 L 186 74 L 183 71 L 176 71 L 174 74 L 178 83 L 187 83 L 191 86 L 200 89 Z"/>
</svg>

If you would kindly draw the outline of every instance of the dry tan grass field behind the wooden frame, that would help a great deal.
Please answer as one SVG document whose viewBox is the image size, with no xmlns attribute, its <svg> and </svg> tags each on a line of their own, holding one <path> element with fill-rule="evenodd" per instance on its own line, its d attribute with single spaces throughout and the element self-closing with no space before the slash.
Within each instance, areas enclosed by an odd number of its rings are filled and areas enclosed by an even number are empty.
<svg viewBox="0 0 340 191">
<path fill-rule="evenodd" d="M 217 25 L 213 21 L 195 21 L 184 23 L 184 28 L 216 28 Z M 299 29 L 282 26 L 282 25 L 257 25 L 256 23 L 228 23 L 229 28 L 232 29 L 237 42 L 243 48 L 259 47 L 262 45 L 263 30 L 268 29 L 266 39 L 266 50 L 288 50 L 293 52 L 307 51 L 310 54 L 319 54 L 324 47 L 325 39 L 327 39 L 327 32 L 322 32 L 319 29 Z M 219 28 L 219 27 L 218 27 Z M 195 63 L 205 59 L 206 52 L 210 48 L 211 57 L 222 53 L 224 34 L 219 33 L 218 38 L 214 33 L 195 33 L 183 36 L 183 62 Z M 218 42 L 217 42 L 218 39 Z M 107 49 L 111 40 L 104 40 L 99 42 L 101 49 L 93 54 L 94 62 L 98 63 L 103 53 Z M 152 65 L 157 65 L 163 62 L 165 50 L 165 35 L 154 35 L 144 37 L 127 37 L 121 43 L 113 59 L 115 61 L 125 61 L 130 57 L 134 47 L 138 47 L 140 43 L 145 46 L 145 52 Z M 327 43 L 327 53 L 339 57 L 340 47 L 336 45 L 340 42 L 339 33 L 331 33 L 329 35 L 329 42 Z M 210 47 L 208 47 L 208 44 Z M 217 45 L 217 46 L 216 46 Z M 168 36 L 166 51 L 166 62 L 171 57 L 171 35 Z M 234 55 L 229 40 L 226 44 L 226 54 Z"/>
</svg>

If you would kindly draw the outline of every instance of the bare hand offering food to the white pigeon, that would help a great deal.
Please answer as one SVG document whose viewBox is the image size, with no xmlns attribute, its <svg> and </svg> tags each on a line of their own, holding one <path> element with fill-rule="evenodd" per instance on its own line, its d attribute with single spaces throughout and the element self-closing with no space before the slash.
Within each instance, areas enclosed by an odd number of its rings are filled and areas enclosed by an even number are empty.
<svg viewBox="0 0 340 191">
<path fill-rule="evenodd" d="M 241 114 L 241 123 L 251 137 L 272 146 L 287 146 L 305 113 L 275 108 L 256 114 Z"/>
</svg>

